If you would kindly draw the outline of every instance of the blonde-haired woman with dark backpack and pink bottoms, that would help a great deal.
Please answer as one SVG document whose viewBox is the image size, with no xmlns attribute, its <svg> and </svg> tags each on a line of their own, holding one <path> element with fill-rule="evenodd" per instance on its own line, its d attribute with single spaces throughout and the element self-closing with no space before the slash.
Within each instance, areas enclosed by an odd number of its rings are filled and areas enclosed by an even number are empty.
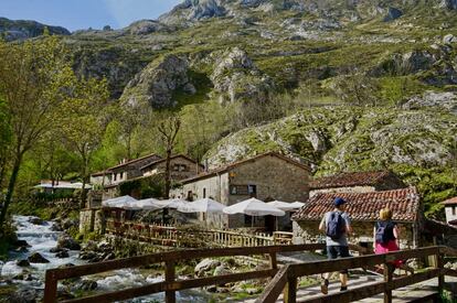
<svg viewBox="0 0 457 303">
<path fill-rule="evenodd" d="M 380 210 L 380 220 L 375 223 L 373 228 L 373 250 L 374 253 L 385 253 L 400 250 L 398 227 L 392 220 L 392 210 L 387 207 Z M 414 272 L 412 268 L 406 266 L 402 260 L 393 262 L 395 268 L 401 268 L 410 272 Z"/>
</svg>

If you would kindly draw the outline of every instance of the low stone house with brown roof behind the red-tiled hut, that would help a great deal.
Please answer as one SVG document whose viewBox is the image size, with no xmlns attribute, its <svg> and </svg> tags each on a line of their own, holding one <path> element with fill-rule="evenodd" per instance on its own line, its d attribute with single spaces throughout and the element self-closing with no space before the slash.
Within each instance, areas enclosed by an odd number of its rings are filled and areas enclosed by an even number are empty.
<svg viewBox="0 0 457 303">
<path fill-rule="evenodd" d="M 391 171 L 351 172 L 315 178 L 309 196 L 319 193 L 368 193 L 404 188 L 403 181 Z"/>
</svg>

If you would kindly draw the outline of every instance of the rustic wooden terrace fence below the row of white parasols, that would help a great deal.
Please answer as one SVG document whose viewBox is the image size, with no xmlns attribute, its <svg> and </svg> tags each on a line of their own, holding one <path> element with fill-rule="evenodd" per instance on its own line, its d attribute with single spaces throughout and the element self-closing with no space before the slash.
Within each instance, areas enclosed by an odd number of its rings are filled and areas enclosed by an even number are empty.
<svg viewBox="0 0 457 303">
<path fill-rule="evenodd" d="M 191 229 L 171 225 L 149 225 L 132 221 L 106 220 L 106 232 L 145 242 L 174 247 L 254 247 L 291 245 L 293 232 L 275 231 L 243 234 L 232 230 Z"/>
</svg>

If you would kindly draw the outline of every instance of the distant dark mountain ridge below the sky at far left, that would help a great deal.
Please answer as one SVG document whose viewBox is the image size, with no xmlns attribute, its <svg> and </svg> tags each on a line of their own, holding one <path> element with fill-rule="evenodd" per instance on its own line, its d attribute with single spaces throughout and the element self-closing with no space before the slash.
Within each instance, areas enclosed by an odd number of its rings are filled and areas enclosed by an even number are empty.
<svg viewBox="0 0 457 303">
<path fill-rule="evenodd" d="M 70 35 L 70 31 L 62 26 L 51 26 L 30 20 L 0 18 L 0 35 L 7 41 L 24 40 L 42 35 L 45 28 L 47 28 L 51 34 Z"/>
</svg>

